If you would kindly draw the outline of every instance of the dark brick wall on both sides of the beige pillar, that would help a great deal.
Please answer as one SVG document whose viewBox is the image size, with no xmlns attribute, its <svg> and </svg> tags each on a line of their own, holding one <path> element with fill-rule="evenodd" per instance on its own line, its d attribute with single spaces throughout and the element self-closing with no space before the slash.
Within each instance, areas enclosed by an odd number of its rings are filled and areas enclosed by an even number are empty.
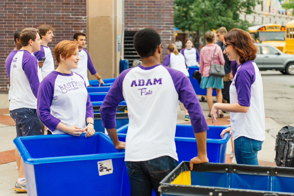
<svg viewBox="0 0 294 196">
<path fill-rule="evenodd" d="M 72 40 L 75 31 L 86 33 L 86 0 L 0 1 L 0 93 L 8 93 L 7 85 L 10 85 L 5 60 L 15 47 L 14 32 L 25 27 L 37 28 L 41 24 L 54 27 L 54 38 L 48 44 L 53 52 L 60 41 Z M 162 43 L 172 43 L 173 0 L 125 0 L 125 31 L 146 27 L 156 29 Z M 166 46 L 162 62 L 167 54 Z"/>
</svg>

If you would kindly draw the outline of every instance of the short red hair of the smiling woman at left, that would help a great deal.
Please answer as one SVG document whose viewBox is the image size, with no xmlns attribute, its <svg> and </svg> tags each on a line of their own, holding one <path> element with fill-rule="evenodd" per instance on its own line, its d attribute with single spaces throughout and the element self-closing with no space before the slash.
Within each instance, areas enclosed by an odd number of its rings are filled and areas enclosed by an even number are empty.
<svg viewBox="0 0 294 196">
<path fill-rule="evenodd" d="M 60 62 L 60 55 L 64 59 L 69 58 L 71 55 L 73 55 L 77 47 L 78 44 L 74 43 L 74 41 L 64 40 L 59 42 L 54 48 L 54 57 L 57 63 Z"/>
</svg>

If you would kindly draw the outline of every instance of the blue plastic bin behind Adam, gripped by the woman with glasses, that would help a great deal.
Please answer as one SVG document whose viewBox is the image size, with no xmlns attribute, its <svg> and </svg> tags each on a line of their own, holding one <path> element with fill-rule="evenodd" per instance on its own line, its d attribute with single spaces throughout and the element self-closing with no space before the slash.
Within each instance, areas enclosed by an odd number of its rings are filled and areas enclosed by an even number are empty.
<svg viewBox="0 0 294 196">
<path fill-rule="evenodd" d="M 227 142 L 230 139 L 230 134 L 226 133 L 223 138 L 220 138 L 220 133 L 228 127 L 208 125 L 208 128 L 206 146 L 209 162 L 225 163 Z M 122 141 L 126 141 L 127 130 L 128 126 L 123 126 L 117 130 Z M 175 141 L 179 163 L 181 161 L 190 161 L 191 158 L 197 156 L 197 144 L 192 125 L 177 124 Z"/>
</svg>

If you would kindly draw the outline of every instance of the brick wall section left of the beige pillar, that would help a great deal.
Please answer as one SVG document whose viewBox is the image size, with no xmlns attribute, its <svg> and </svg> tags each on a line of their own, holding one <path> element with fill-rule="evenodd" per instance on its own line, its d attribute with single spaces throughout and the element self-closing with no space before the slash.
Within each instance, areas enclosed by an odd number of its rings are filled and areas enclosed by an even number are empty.
<svg viewBox="0 0 294 196">
<path fill-rule="evenodd" d="M 52 50 L 62 40 L 73 39 L 76 31 L 86 33 L 86 0 L 1 0 L 0 1 L 0 93 L 8 93 L 10 85 L 5 60 L 14 49 L 14 32 L 26 27 L 37 28 L 49 24 L 54 38 L 48 46 Z M 57 65 L 57 64 L 56 64 Z"/>
</svg>

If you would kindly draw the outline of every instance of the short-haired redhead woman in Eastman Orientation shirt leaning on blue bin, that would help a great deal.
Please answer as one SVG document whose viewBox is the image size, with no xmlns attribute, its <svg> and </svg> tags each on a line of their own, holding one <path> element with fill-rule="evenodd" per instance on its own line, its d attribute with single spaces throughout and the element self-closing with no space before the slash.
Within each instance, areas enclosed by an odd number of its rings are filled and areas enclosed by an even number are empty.
<svg viewBox="0 0 294 196">
<path fill-rule="evenodd" d="M 59 42 L 54 57 L 58 67 L 44 78 L 38 91 L 38 116 L 49 134 L 80 136 L 86 131 L 85 137 L 91 137 L 95 130 L 90 96 L 83 77 L 71 71 L 78 66 L 78 44 Z"/>
</svg>

